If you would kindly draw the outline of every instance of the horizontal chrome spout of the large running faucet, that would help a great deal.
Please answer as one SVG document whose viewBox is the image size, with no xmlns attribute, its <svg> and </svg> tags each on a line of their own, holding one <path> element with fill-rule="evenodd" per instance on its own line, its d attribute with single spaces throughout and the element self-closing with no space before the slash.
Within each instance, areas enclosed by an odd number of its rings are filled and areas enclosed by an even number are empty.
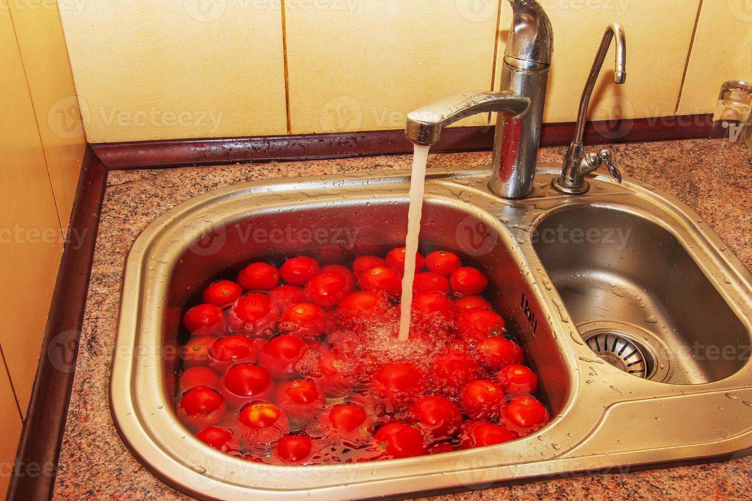
<svg viewBox="0 0 752 501">
<path fill-rule="evenodd" d="M 466 116 L 496 111 L 509 115 L 523 113 L 529 99 L 511 92 L 463 92 L 450 95 L 408 113 L 405 136 L 415 144 L 432 145 L 441 129 Z"/>
</svg>

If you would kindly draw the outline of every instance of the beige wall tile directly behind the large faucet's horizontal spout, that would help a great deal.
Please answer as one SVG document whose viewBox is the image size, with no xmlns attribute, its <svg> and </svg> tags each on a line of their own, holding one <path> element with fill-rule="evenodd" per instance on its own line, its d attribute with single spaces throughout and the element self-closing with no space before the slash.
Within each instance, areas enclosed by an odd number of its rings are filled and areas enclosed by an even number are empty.
<svg viewBox="0 0 752 501">
<path fill-rule="evenodd" d="M 293 133 L 402 128 L 432 100 L 490 90 L 496 2 L 285 5 Z M 487 114 L 459 123 L 485 124 Z"/>
</svg>

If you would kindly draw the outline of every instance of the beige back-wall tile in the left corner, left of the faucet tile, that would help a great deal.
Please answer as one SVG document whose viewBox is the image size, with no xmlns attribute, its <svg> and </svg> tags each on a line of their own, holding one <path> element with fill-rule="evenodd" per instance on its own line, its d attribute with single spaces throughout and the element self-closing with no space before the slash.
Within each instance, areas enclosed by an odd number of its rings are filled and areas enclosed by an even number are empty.
<svg viewBox="0 0 752 501">
<path fill-rule="evenodd" d="M 90 142 L 287 131 L 274 0 L 74 5 L 60 14 Z"/>
</svg>

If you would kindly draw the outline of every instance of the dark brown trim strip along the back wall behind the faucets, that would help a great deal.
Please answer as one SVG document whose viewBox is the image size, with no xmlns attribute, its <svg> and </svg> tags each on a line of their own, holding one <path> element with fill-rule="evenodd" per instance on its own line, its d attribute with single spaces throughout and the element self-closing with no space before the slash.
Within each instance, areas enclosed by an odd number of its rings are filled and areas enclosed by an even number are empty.
<svg viewBox="0 0 752 501">
<path fill-rule="evenodd" d="M 636 143 L 708 137 L 711 115 L 663 116 L 643 119 L 588 122 L 585 142 Z M 574 122 L 547 123 L 541 146 L 568 145 Z M 492 126 L 450 127 L 432 152 L 490 149 Z M 92 144 L 96 155 L 111 170 L 230 164 L 245 161 L 289 161 L 397 155 L 412 152 L 402 129 L 262 137 L 217 137 Z"/>
</svg>

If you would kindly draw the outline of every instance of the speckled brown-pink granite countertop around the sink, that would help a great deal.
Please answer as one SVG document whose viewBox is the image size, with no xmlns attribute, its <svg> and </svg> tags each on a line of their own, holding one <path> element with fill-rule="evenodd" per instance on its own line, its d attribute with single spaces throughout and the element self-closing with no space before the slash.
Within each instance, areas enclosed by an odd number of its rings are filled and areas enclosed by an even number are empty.
<svg viewBox="0 0 752 501">
<path fill-rule="evenodd" d="M 544 148 L 539 160 L 560 162 L 564 152 L 564 148 Z M 705 140 L 623 144 L 611 146 L 611 152 L 624 174 L 663 189 L 692 207 L 747 269 L 752 269 L 752 153 Z M 429 168 L 487 163 L 490 152 L 429 157 Z M 150 222 L 182 201 L 233 183 L 410 165 L 410 155 L 394 155 L 111 172 L 53 497 L 186 499 L 130 454 L 115 430 L 108 404 L 123 263 L 133 241 Z M 752 456 L 726 463 L 567 478 L 434 499 L 750 499 L 750 486 Z"/>
</svg>

